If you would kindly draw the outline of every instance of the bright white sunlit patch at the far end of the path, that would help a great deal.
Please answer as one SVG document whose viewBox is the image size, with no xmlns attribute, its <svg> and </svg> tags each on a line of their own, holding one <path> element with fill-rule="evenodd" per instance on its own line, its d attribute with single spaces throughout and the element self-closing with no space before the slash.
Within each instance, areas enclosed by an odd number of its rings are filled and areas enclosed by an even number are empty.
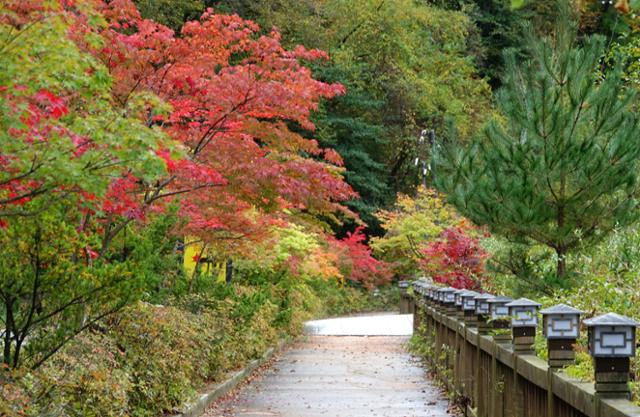
<svg viewBox="0 0 640 417">
<path fill-rule="evenodd" d="M 304 331 L 317 336 L 410 336 L 413 334 L 413 314 L 373 314 L 313 320 L 305 323 Z"/>
</svg>

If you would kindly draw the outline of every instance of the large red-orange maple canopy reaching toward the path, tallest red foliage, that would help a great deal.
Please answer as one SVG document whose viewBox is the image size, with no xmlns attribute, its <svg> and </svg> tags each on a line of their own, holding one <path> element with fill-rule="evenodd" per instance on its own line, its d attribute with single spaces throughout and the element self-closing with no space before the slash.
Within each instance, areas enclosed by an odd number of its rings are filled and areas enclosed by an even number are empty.
<svg viewBox="0 0 640 417">
<path fill-rule="evenodd" d="M 355 193 L 340 175 L 339 155 L 298 133 L 314 130 L 309 117 L 321 99 L 344 91 L 300 63 L 325 53 L 286 50 L 277 32 L 260 35 L 255 23 L 211 10 L 179 37 L 142 19 L 129 0 L 112 1 L 103 13 L 107 44 L 94 52 L 111 70 L 116 99 L 126 107 L 151 92 L 169 103 L 168 114 L 150 103 L 141 117 L 183 152 L 177 161 L 162 153 L 169 176 L 138 186 L 142 210 L 180 195 L 183 232 L 205 240 L 258 233 L 284 213 L 348 212 L 340 203 Z"/>
</svg>

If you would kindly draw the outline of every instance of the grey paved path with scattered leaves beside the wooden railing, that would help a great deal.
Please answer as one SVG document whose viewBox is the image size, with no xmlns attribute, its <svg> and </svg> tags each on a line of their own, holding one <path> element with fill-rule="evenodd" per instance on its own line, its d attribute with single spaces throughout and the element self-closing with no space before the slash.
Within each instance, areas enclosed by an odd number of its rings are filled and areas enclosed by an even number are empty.
<svg viewBox="0 0 640 417">
<path fill-rule="evenodd" d="M 374 334 L 396 334 L 411 316 L 376 316 Z M 345 319 L 315 334 L 354 333 Z M 354 317 L 354 324 L 370 323 Z M 345 330 L 347 329 L 347 330 Z M 386 330 L 385 330 L 386 329 Z M 408 336 L 307 336 L 207 417 L 445 417 L 447 401 L 406 353 Z"/>
</svg>

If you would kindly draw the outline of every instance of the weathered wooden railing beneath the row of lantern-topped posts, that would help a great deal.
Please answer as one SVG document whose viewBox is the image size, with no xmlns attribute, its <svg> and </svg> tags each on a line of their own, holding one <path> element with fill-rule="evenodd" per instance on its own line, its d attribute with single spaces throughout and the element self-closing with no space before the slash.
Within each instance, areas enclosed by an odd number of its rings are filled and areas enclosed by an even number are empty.
<svg viewBox="0 0 640 417">
<path fill-rule="evenodd" d="M 465 315 L 460 305 L 444 303 L 432 293 L 424 286 L 414 287 L 413 293 L 405 290 L 401 312 L 414 314 L 414 331 L 427 344 L 429 368 L 466 416 L 640 417 L 640 408 L 629 400 L 629 370 L 624 372 L 628 358 L 594 361 L 596 380 L 601 382 L 596 392 L 593 382 L 573 379 L 532 349 L 516 345 L 523 340 L 533 344 L 526 331 L 504 329 L 485 321 L 486 315 Z M 501 327 L 502 332 L 494 331 Z M 635 327 L 633 332 L 635 351 Z M 550 343 L 551 348 L 555 345 Z M 564 352 L 564 357 L 573 357 L 572 352 Z"/>
</svg>

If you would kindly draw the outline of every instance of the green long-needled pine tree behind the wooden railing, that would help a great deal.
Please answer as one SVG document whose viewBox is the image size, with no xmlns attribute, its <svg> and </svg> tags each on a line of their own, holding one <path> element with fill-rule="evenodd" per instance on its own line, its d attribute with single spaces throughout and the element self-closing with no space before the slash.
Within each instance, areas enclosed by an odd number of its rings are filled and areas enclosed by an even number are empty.
<svg viewBox="0 0 640 417">
<path fill-rule="evenodd" d="M 561 9 L 563 7 L 561 6 Z M 564 6 L 566 9 L 567 6 Z M 638 220 L 639 118 L 622 68 L 603 69 L 605 39 L 581 42 L 569 12 L 540 38 L 525 27 L 527 61 L 505 54 L 491 121 L 466 149 L 435 157 L 438 186 L 474 222 L 566 255 Z"/>
</svg>

